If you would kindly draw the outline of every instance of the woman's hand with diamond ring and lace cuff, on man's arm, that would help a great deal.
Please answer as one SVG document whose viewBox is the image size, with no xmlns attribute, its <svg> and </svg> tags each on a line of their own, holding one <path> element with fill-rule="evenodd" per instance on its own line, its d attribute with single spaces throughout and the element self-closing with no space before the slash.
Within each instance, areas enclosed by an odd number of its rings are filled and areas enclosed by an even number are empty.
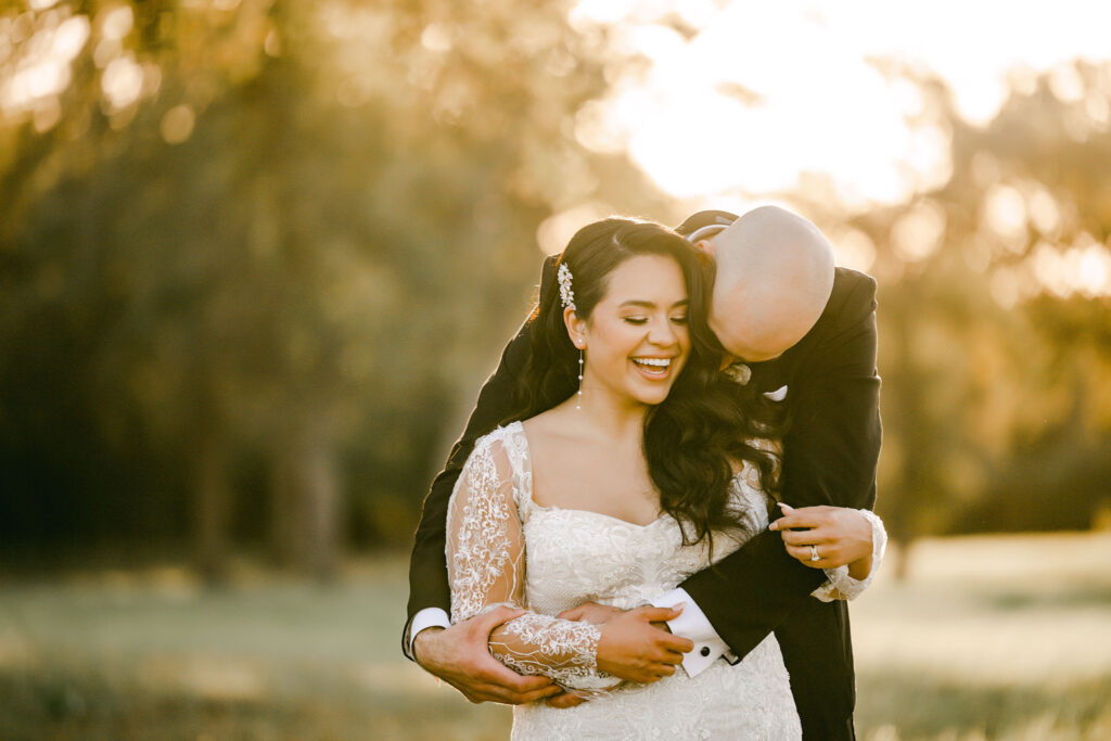
<svg viewBox="0 0 1111 741">
<path fill-rule="evenodd" d="M 792 558 L 825 572 L 825 583 L 813 597 L 823 602 L 852 600 L 871 585 L 888 543 L 883 521 L 875 513 L 842 507 L 780 507 L 785 514 L 770 529 L 782 532 Z"/>
</svg>

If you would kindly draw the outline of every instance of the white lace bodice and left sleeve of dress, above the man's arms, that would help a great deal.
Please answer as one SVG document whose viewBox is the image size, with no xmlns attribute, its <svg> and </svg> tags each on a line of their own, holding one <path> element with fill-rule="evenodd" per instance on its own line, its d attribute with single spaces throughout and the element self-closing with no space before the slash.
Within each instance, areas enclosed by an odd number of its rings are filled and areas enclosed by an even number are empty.
<svg viewBox="0 0 1111 741">
<path fill-rule="evenodd" d="M 742 471 L 734 500 L 749 530 L 767 527 L 764 495 Z M 529 547 L 526 548 L 526 542 Z M 481 438 L 448 505 L 448 571 L 452 622 L 498 604 L 530 614 L 500 627 L 490 648 L 521 673 L 543 673 L 568 688 L 618 683 L 600 674 L 600 631 L 552 615 L 591 600 L 630 609 L 644 604 L 741 544 L 737 537 L 683 545 L 679 523 L 662 514 L 637 525 L 585 510 L 541 507 L 532 499 L 528 439 L 520 423 Z"/>
</svg>

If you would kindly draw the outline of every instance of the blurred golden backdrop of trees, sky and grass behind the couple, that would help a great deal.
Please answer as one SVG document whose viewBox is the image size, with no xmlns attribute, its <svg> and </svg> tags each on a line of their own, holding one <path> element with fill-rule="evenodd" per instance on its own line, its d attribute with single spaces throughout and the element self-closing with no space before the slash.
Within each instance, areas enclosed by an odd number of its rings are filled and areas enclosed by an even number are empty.
<svg viewBox="0 0 1111 741">
<path fill-rule="evenodd" d="M 1109 28 L 0 0 L 0 735 L 503 738 L 406 549 L 542 254 L 775 202 L 879 281 L 862 738 L 1111 738 Z"/>
</svg>

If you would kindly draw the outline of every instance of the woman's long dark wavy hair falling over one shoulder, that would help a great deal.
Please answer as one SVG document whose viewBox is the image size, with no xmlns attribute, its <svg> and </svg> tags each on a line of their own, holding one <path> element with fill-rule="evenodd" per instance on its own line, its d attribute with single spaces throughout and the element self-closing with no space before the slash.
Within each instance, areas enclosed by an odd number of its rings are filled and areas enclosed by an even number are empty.
<svg viewBox="0 0 1111 741">
<path fill-rule="evenodd" d="M 769 493 L 777 489 L 775 457 L 748 441 L 774 437 L 781 420 L 777 407 L 762 394 L 721 378 L 724 350 L 707 323 L 712 261 L 671 229 L 615 217 L 580 229 L 557 263 L 557 269 L 567 264 L 573 277 L 578 317 L 589 321 L 605 296 L 610 273 L 640 254 L 673 259 L 690 299 L 690 357 L 667 400 L 649 410 L 644 420 L 648 472 L 659 491 L 661 509 L 681 523 L 684 542 L 705 538 L 712 544 L 712 531 L 743 529 L 743 512 L 730 507 L 733 462 L 752 462 L 762 488 Z M 517 409 L 504 422 L 551 409 L 578 387 L 579 351 L 563 323 L 558 287 L 540 297 L 529 322 L 531 353 L 517 378 Z"/>
</svg>

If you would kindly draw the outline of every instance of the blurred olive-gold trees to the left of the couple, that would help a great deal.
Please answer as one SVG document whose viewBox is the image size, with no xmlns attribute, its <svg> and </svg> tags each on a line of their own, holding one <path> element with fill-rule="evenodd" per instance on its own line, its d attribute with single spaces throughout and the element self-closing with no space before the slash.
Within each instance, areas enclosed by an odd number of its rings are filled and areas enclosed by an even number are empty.
<svg viewBox="0 0 1111 741">
<path fill-rule="evenodd" d="M 236 529 L 327 575 L 349 489 L 357 533 L 408 539 L 451 401 L 524 313 L 539 221 L 598 191 L 592 168 L 647 194 L 569 133 L 603 47 L 564 13 L 8 13 L 4 84 L 77 37 L 72 80 L 27 92 L 0 132 L 0 434 L 22 512 L 6 534 L 180 534 L 192 502 L 210 577 Z M 266 495 L 237 502 L 237 468 L 260 460 Z M 43 490 L 54 505 L 32 503 Z"/>
</svg>

